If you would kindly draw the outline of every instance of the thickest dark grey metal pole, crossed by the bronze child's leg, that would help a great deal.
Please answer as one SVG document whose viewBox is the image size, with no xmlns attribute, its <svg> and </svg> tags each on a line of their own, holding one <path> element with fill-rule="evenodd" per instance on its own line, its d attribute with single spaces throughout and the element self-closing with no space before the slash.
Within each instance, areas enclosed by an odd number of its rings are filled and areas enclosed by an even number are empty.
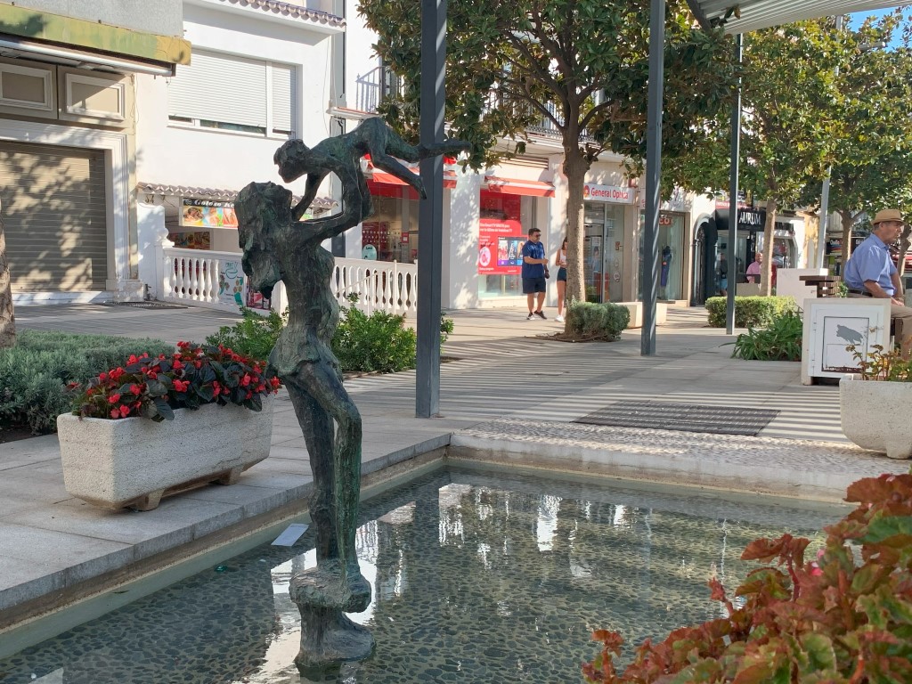
<svg viewBox="0 0 912 684">
<path fill-rule="evenodd" d="M 421 0 L 422 144 L 443 140 L 443 75 L 447 55 L 447 0 Z M 418 358 L 415 415 L 440 413 L 440 274 L 443 262 L 443 159 L 421 161 L 428 192 L 418 213 Z"/>
</svg>

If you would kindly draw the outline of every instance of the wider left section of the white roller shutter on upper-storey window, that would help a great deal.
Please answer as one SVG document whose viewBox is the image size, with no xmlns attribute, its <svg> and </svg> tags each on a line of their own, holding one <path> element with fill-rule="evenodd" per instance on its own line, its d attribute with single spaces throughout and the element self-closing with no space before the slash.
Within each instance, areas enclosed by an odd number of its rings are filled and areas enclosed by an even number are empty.
<svg viewBox="0 0 912 684">
<path fill-rule="evenodd" d="M 171 78 L 168 114 L 265 129 L 265 63 L 194 51 L 192 64 Z"/>
</svg>

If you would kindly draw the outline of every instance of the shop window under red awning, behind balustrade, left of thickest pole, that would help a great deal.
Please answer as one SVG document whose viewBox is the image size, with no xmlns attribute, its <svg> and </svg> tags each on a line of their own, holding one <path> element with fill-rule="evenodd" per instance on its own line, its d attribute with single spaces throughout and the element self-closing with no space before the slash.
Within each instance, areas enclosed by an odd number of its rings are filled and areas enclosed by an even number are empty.
<svg viewBox="0 0 912 684">
<path fill-rule="evenodd" d="M 418 200 L 399 185 L 371 184 L 374 214 L 361 224 L 361 258 L 412 264 L 418 259 Z"/>
</svg>

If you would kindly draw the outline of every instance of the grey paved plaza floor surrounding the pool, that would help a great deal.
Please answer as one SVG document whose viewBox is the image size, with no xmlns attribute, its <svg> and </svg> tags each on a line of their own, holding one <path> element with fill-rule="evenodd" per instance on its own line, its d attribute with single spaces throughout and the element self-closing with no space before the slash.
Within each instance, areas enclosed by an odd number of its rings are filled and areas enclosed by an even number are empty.
<svg viewBox="0 0 912 684">
<path fill-rule="evenodd" d="M 549 312 L 554 314 L 554 310 Z M 611 344 L 549 339 L 561 326 L 520 309 L 452 312 L 440 417 L 415 418 L 415 374 L 364 376 L 347 389 L 364 420 L 364 472 L 402 463 L 478 458 L 748 492 L 838 500 L 848 482 L 907 472 L 906 461 L 861 451 L 839 427 L 838 389 L 804 387 L 800 367 L 731 358 L 732 337 L 702 309 L 669 309 L 658 353 L 640 356 L 639 331 Z M 22 306 L 21 328 L 202 340 L 238 316 L 200 308 Z M 620 401 L 769 409 L 756 437 L 573 422 Z M 270 458 L 239 484 L 162 501 L 147 513 L 110 513 L 70 497 L 53 435 L 0 444 L 0 630 L 26 607 L 53 607 L 65 590 L 276 516 L 310 488 L 307 452 L 282 392 Z M 42 601 L 45 604 L 42 604 Z M 0 642 L 3 641 L 0 631 Z"/>
</svg>

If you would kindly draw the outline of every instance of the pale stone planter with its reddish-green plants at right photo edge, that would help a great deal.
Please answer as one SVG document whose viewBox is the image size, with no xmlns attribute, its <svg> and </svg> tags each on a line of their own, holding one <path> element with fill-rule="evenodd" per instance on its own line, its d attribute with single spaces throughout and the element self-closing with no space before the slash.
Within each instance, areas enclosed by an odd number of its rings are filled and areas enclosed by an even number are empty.
<svg viewBox="0 0 912 684">
<path fill-rule="evenodd" d="M 896 349 L 872 345 L 863 354 L 846 347 L 858 373 L 839 380 L 839 412 L 845 437 L 891 459 L 912 456 L 912 361 Z"/>
</svg>

